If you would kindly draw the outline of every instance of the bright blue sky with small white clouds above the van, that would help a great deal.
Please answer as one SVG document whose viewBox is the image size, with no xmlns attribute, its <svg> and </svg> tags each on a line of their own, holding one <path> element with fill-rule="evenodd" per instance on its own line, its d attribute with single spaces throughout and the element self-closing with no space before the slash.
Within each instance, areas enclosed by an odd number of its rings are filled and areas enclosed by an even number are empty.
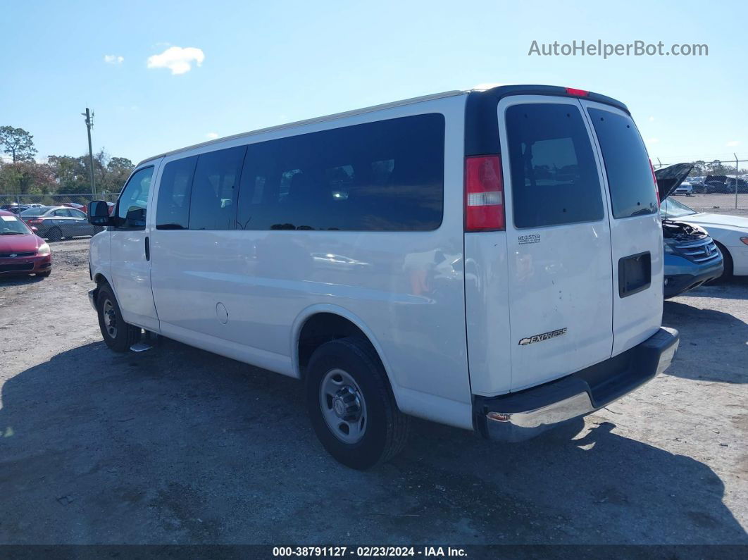
<svg viewBox="0 0 748 560">
<path fill-rule="evenodd" d="M 625 102 L 653 159 L 748 159 L 748 3 L 28 1 L 0 12 L 0 124 L 39 157 L 138 161 L 252 129 L 483 83 Z M 705 57 L 538 57 L 533 40 L 706 43 Z M 171 47 L 186 56 L 147 61 Z M 174 51 L 171 51 L 174 53 Z M 202 62 L 198 66 L 197 58 Z M 105 61 L 105 56 L 109 56 Z M 191 56 L 191 58 L 190 58 Z M 179 58 L 179 57 L 177 57 Z M 177 73 L 165 66 L 172 64 Z M 160 67 L 159 67 L 160 64 Z M 181 71 L 181 73 L 179 73 Z"/>
</svg>

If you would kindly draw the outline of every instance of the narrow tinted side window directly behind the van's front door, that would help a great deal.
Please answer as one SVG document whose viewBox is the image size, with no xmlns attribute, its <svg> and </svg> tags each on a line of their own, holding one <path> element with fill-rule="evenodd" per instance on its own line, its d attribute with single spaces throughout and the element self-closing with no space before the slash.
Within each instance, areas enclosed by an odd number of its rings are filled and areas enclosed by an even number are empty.
<svg viewBox="0 0 748 560">
<path fill-rule="evenodd" d="M 159 183 L 156 230 L 186 230 L 189 200 L 197 156 L 177 159 L 165 165 Z"/>
</svg>

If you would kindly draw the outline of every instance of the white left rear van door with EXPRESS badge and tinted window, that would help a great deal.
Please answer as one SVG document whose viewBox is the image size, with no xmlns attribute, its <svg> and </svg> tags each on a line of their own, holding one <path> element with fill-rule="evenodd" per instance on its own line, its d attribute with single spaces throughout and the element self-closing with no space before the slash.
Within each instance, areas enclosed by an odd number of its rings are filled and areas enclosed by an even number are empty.
<svg viewBox="0 0 748 560">
<path fill-rule="evenodd" d="M 577 99 L 508 96 L 498 123 L 516 391 L 610 357 L 613 262 L 602 167 Z"/>
</svg>

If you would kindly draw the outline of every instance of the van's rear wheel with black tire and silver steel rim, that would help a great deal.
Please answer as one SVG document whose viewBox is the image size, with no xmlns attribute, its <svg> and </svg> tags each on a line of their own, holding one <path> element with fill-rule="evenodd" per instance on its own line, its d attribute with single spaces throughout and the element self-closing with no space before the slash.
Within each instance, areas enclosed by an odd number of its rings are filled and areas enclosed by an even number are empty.
<svg viewBox="0 0 748 560">
<path fill-rule="evenodd" d="M 346 467 L 369 469 L 405 447 L 410 418 L 399 411 L 367 340 L 349 337 L 319 346 L 307 367 L 306 393 L 319 441 Z M 349 426 L 347 433 L 344 425 Z"/>
</svg>

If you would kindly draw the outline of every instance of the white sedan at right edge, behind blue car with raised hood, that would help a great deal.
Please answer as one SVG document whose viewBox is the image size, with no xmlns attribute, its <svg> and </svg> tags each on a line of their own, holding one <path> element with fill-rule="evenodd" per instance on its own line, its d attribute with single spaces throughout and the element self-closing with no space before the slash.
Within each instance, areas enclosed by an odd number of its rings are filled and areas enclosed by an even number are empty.
<svg viewBox="0 0 748 560">
<path fill-rule="evenodd" d="M 660 215 L 705 228 L 725 258 L 723 278 L 748 275 L 748 218 L 696 212 L 671 197 L 663 200 Z"/>
</svg>

